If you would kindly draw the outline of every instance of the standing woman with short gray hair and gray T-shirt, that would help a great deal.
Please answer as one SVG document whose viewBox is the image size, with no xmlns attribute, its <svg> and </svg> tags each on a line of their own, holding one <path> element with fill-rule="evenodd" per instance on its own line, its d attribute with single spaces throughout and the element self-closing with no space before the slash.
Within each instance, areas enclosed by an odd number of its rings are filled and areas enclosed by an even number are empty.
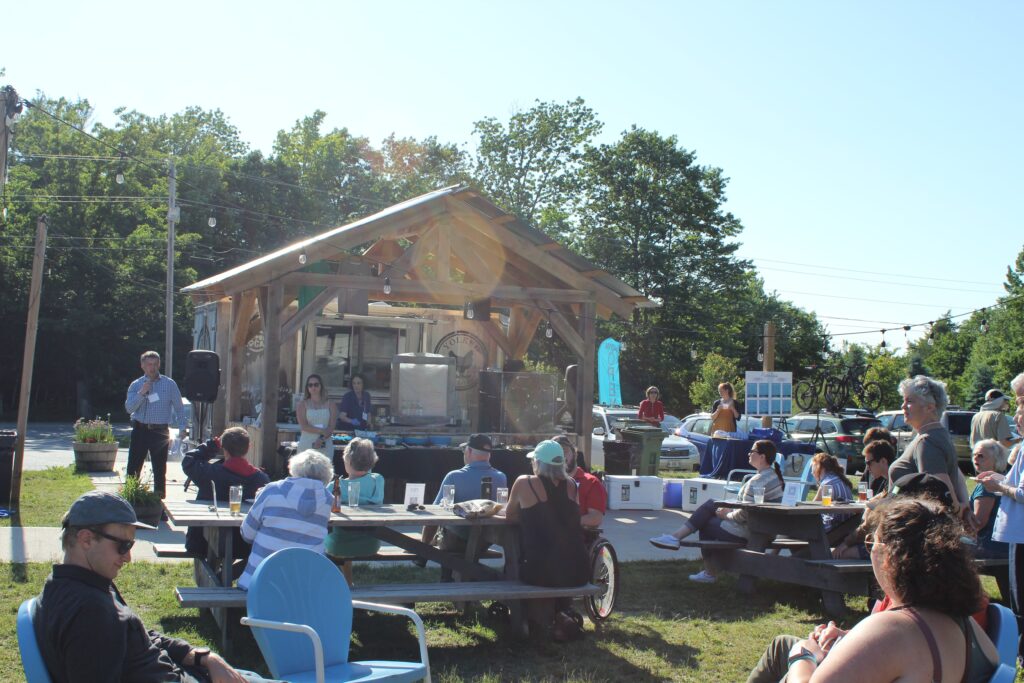
<svg viewBox="0 0 1024 683">
<path fill-rule="evenodd" d="M 903 395 L 903 416 L 918 433 L 903 455 L 889 467 L 889 480 L 927 472 L 949 487 L 953 507 L 964 516 L 964 525 L 977 528 L 974 512 L 967 505 L 967 482 L 956 466 L 956 450 L 949 430 L 939 420 L 949 404 L 946 385 L 925 375 L 910 377 L 899 383 Z"/>
</svg>

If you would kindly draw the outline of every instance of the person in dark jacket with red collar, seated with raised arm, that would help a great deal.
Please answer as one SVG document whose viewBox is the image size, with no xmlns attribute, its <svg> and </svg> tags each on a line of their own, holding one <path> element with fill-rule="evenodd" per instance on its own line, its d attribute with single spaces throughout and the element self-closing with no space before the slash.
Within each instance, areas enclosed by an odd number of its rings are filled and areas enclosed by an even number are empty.
<svg viewBox="0 0 1024 683">
<path fill-rule="evenodd" d="M 255 498 L 256 492 L 270 482 L 266 472 L 256 469 L 246 460 L 249 453 L 249 433 L 242 427 L 229 427 L 220 438 L 212 438 L 199 447 L 189 451 L 181 460 L 181 470 L 196 483 L 197 501 L 213 501 L 216 492 L 218 501 L 226 501 L 231 486 L 242 486 L 242 498 Z M 234 535 L 234 556 L 249 559 L 252 547 L 242 539 L 237 528 Z M 207 544 L 203 529 L 191 526 L 185 533 L 185 550 L 197 557 L 206 557 Z M 223 549 L 219 556 L 223 556 Z M 245 566 L 245 562 L 242 562 Z"/>
</svg>

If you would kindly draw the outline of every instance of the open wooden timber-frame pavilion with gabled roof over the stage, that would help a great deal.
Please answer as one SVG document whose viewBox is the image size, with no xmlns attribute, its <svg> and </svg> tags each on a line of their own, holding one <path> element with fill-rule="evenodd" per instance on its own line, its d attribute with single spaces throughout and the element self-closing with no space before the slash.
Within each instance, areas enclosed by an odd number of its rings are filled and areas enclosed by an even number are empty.
<svg viewBox="0 0 1024 683">
<path fill-rule="evenodd" d="M 474 322 L 506 360 L 523 356 L 544 321 L 578 357 L 577 429 L 588 462 L 595 321 L 612 314 L 629 319 L 635 309 L 656 305 L 461 185 L 297 242 L 183 292 L 197 306 L 216 302 L 221 311 L 216 322 L 222 373 L 215 430 L 241 418 L 243 352 L 253 323 L 262 329 L 263 377 L 279 378 L 282 348 L 329 303 L 336 303 L 339 312 L 358 313 L 368 300 L 460 311 L 482 302 L 508 310 L 507 325 L 489 315 Z M 278 382 L 262 382 L 262 415 L 276 416 L 279 389 Z M 275 458 L 279 441 L 274 419 L 263 420 L 261 429 L 252 454 L 257 464 Z"/>
</svg>

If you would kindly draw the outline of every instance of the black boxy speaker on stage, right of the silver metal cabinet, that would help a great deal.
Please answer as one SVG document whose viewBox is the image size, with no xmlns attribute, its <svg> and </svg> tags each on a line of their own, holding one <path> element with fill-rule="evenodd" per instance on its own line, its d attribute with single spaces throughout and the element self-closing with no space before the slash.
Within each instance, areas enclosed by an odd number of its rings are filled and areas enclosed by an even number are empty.
<svg viewBox="0 0 1024 683">
<path fill-rule="evenodd" d="M 554 430 L 555 378 L 541 373 L 480 373 L 481 432 L 504 434 Z"/>
</svg>

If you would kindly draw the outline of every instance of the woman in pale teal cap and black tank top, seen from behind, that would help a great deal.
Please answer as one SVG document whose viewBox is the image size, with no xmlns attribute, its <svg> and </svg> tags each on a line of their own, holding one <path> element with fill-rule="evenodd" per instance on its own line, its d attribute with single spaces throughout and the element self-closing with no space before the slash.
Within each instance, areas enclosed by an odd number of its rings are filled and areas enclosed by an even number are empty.
<svg viewBox="0 0 1024 683">
<path fill-rule="evenodd" d="M 522 559 L 519 574 L 531 586 L 568 587 L 587 583 L 587 548 L 580 524 L 575 480 L 565 472 L 565 453 L 555 441 L 541 441 L 527 456 L 534 475 L 524 474 L 512 484 L 506 517 L 519 522 Z M 580 633 L 570 598 L 530 600 L 528 616 L 554 640 L 568 640 Z"/>
</svg>

